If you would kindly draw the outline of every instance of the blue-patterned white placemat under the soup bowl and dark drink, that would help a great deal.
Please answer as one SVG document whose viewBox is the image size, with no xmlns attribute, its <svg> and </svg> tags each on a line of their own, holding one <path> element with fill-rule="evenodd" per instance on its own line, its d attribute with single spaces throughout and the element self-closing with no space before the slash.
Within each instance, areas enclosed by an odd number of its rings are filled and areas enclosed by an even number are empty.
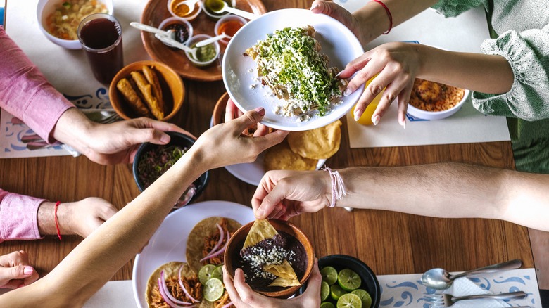
<svg viewBox="0 0 549 308">
<path fill-rule="evenodd" d="M 146 0 L 116 0 L 114 15 L 122 25 L 124 63 L 148 60 L 139 30 L 130 22 L 140 21 Z M 10 1 L 6 10 L 6 32 L 42 71 L 48 81 L 79 108 L 110 108 L 108 86 L 96 81 L 84 51 L 53 44 L 39 29 L 38 0 Z M 1 110 L 0 158 L 69 155 L 61 147 L 27 150 L 22 136 L 34 134 L 25 124 L 11 123 L 12 116 Z"/>
</svg>

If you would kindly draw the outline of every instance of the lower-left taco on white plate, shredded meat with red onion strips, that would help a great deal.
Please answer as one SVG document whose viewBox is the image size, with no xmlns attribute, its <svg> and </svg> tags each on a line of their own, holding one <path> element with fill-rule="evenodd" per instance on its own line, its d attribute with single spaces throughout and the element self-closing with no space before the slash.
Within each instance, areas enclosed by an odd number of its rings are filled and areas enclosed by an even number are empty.
<svg viewBox="0 0 549 308">
<path fill-rule="evenodd" d="M 183 290 L 182 284 L 187 293 Z M 200 308 L 214 307 L 213 302 L 203 299 L 203 285 L 185 262 L 168 262 L 158 267 L 147 282 L 146 300 L 149 307 L 154 308 L 183 306 L 181 302 L 198 304 L 195 307 Z"/>
</svg>

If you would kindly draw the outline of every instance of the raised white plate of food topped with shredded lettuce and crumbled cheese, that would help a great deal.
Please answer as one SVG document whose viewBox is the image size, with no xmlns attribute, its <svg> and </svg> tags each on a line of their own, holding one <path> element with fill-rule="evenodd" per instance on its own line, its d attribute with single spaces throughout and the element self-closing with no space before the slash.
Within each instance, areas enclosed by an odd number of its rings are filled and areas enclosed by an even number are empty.
<svg viewBox="0 0 549 308">
<path fill-rule="evenodd" d="M 346 81 L 336 75 L 362 53 L 353 32 L 334 18 L 298 8 L 272 11 L 229 41 L 223 82 L 240 110 L 265 108 L 266 126 L 315 129 L 343 117 L 360 98 L 362 87 L 342 96 Z"/>
</svg>

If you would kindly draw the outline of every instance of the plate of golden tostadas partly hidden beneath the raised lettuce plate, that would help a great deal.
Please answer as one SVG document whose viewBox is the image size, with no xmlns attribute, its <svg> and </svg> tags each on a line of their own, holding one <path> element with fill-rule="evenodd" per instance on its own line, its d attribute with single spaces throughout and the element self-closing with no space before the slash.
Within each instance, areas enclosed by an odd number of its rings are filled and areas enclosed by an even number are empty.
<svg viewBox="0 0 549 308">
<path fill-rule="evenodd" d="M 229 100 L 223 94 L 212 115 L 210 127 L 224 122 L 225 106 Z M 318 170 L 339 150 L 341 121 L 308 131 L 292 131 L 286 140 L 258 155 L 255 162 L 226 166 L 228 172 L 241 181 L 258 186 L 268 170 Z"/>
</svg>

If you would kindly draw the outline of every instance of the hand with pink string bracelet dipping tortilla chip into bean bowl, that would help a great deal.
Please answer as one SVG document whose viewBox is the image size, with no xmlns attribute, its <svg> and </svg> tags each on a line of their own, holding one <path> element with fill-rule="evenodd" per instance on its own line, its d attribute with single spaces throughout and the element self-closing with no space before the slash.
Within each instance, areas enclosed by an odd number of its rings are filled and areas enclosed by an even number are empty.
<svg viewBox="0 0 549 308">
<path fill-rule="evenodd" d="M 256 219 L 288 220 L 303 212 L 318 212 L 332 200 L 328 172 L 275 170 L 265 173 L 252 198 Z"/>
</svg>

